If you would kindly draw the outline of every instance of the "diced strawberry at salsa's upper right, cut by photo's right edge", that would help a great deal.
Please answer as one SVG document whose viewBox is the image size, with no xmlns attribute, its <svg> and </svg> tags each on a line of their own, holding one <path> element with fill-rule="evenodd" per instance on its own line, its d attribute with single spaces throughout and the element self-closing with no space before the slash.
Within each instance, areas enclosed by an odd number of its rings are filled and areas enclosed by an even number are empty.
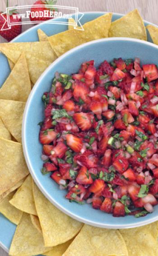
<svg viewBox="0 0 158 256">
<path fill-rule="evenodd" d="M 151 82 L 158 78 L 158 68 L 154 64 L 146 64 L 142 66 L 147 81 Z"/>
</svg>

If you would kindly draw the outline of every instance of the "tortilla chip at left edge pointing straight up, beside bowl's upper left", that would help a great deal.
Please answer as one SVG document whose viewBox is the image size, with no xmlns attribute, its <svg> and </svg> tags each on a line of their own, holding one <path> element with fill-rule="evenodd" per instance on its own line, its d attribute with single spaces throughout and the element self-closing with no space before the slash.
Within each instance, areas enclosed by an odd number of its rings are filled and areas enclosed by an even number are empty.
<svg viewBox="0 0 158 256">
<path fill-rule="evenodd" d="M 0 99 L 27 101 L 31 92 L 28 65 L 24 53 L 21 54 L 9 77 L 0 88 Z"/>
</svg>

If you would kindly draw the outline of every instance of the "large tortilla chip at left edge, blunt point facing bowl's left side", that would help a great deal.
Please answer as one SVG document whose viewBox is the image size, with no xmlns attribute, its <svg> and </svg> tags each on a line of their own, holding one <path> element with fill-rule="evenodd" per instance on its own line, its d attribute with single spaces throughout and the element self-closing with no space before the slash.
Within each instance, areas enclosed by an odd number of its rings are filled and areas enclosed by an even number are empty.
<svg viewBox="0 0 158 256">
<path fill-rule="evenodd" d="M 0 138 L 0 195 L 28 175 L 22 145 Z"/>
</svg>

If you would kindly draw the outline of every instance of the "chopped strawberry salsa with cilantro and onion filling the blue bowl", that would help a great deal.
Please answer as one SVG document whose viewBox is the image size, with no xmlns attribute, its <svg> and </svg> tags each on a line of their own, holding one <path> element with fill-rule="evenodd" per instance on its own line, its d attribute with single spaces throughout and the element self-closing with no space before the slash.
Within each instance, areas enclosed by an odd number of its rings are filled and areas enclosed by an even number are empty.
<svg viewBox="0 0 158 256">
<path fill-rule="evenodd" d="M 70 202 L 114 217 L 158 204 L 158 68 L 139 58 L 55 73 L 40 123 L 42 173 Z"/>
</svg>

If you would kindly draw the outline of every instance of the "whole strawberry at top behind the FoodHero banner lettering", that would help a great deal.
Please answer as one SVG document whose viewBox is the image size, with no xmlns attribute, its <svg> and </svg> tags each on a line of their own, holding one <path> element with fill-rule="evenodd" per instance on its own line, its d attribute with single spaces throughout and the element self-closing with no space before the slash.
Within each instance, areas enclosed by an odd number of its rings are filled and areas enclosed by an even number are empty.
<svg viewBox="0 0 158 256">
<path fill-rule="evenodd" d="M 54 12 L 56 10 L 56 8 L 48 8 L 45 6 L 37 6 L 36 5 L 56 5 L 57 0 L 37 0 L 34 4 L 33 7 L 31 8 L 31 13 L 30 13 L 30 20 L 31 21 L 44 21 L 44 20 L 48 20 L 48 19 L 52 19 L 53 17 L 50 17 L 50 11 Z M 44 17 L 44 11 L 47 10 L 48 14 L 45 15 Z M 40 11 L 40 16 L 36 17 L 35 13 L 37 14 L 37 12 Z M 42 13 L 42 14 L 41 14 Z"/>
</svg>

